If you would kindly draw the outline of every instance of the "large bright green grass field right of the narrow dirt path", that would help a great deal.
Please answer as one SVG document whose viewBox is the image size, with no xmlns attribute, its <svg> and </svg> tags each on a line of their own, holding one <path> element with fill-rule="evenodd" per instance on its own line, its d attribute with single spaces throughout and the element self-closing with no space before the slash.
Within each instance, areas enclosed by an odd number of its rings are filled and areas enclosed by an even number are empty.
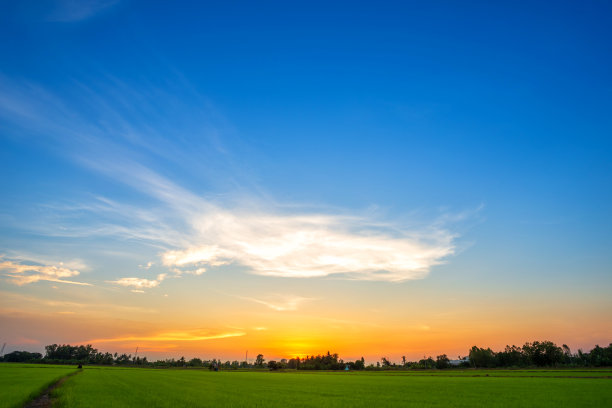
<svg viewBox="0 0 612 408">
<path fill-rule="evenodd" d="M 86 367 L 54 396 L 59 407 L 598 407 L 612 406 L 610 375 L 610 370 L 215 373 Z M 580 376 L 600 378 L 573 378 Z"/>
</svg>

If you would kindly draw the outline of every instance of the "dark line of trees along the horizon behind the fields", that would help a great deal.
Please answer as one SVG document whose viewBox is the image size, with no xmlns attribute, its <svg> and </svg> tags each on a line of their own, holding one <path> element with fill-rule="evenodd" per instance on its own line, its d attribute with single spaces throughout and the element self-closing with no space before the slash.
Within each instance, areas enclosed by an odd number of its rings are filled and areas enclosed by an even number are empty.
<svg viewBox="0 0 612 408">
<path fill-rule="evenodd" d="M 612 343 L 607 347 L 596 345 L 591 351 L 578 350 L 572 353 L 570 348 L 563 344 L 557 346 L 551 341 L 534 341 L 523 346 L 506 346 L 504 350 L 493 351 L 491 348 L 474 346 L 465 357 L 450 360 L 446 354 L 433 359 L 425 357 L 418 361 L 407 361 L 402 357 L 401 363 L 391 362 L 382 357 L 376 364 L 365 364 L 363 357 L 355 361 L 344 361 L 337 353 L 295 357 L 271 360 L 266 362 L 262 354 L 257 355 L 254 362 L 247 361 L 221 361 L 220 359 L 202 360 L 192 358 L 186 360 L 165 359 L 149 361 L 146 357 L 131 354 L 103 353 L 90 344 L 71 346 L 69 344 L 51 344 L 45 346 L 45 355 L 28 351 L 13 351 L 2 357 L 3 362 L 30 362 L 47 364 L 94 364 L 94 365 L 132 365 L 146 367 L 199 367 L 210 370 L 219 369 L 293 369 L 293 370 L 393 370 L 393 369 L 446 369 L 451 367 L 462 368 L 519 368 L 519 367 L 610 367 L 612 366 Z"/>
</svg>

